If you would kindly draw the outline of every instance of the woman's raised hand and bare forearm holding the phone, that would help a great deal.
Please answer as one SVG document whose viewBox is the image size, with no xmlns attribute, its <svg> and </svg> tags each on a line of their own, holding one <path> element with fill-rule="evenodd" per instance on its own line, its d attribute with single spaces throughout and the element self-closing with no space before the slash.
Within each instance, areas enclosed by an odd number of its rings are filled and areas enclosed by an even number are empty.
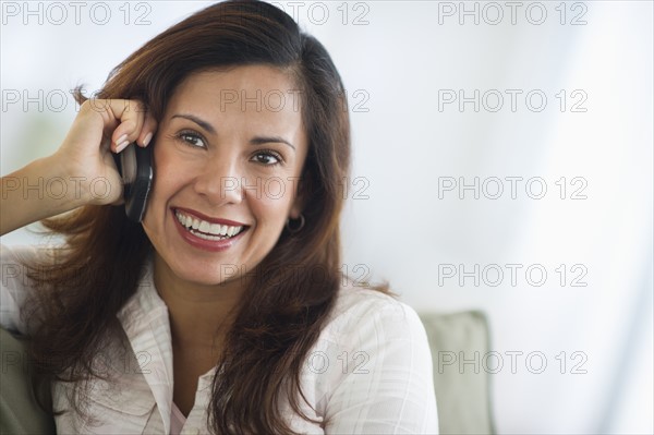
<svg viewBox="0 0 654 435">
<path fill-rule="evenodd" d="M 2 177 L 0 234 L 80 206 L 122 203 L 111 154 L 133 142 L 147 146 L 156 129 L 136 100 L 85 101 L 55 154 Z"/>
</svg>

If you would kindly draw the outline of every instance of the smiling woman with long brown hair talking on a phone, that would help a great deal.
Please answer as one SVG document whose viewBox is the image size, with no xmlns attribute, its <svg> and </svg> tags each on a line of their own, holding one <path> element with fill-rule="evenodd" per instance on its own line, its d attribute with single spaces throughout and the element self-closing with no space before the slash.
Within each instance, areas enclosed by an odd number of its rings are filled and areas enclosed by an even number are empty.
<svg viewBox="0 0 654 435">
<path fill-rule="evenodd" d="M 154 156 L 142 222 L 116 206 L 132 146 Z M 2 200 L 2 233 L 66 240 L 2 253 L 28 275 L 2 326 L 29 335 L 58 432 L 437 432 L 417 316 L 341 276 L 349 164 L 340 76 L 275 7 L 209 7 L 114 69 L 57 153 L 3 178 L 70 182 Z"/>
</svg>

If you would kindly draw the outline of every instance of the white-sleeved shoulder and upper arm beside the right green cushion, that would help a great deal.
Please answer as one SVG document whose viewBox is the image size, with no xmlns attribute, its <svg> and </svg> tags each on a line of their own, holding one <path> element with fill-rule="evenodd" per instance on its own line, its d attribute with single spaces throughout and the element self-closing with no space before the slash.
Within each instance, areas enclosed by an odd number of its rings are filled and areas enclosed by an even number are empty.
<svg viewBox="0 0 654 435">
<path fill-rule="evenodd" d="M 305 363 L 304 392 L 329 433 L 437 433 L 432 354 L 415 311 L 342 286 Z"/>
</svg>

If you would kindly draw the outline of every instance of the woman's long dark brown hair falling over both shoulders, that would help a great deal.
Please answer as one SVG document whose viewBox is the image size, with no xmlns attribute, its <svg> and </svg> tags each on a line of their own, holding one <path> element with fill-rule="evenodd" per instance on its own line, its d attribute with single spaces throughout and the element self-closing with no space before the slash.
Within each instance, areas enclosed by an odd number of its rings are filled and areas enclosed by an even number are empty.
<svg viewBox="0 0 654 435">
<path fill-rule="evenodd" d="M 296 233 L 282 232 L 245 289 L 218 361 L 207 424 L 221 434 L 291 433 L 279 397 L 303 415 L 302 363 L 342 279 L 339 220 L 350 124 L 344 88 L 329 55 L 278 8 L 227 1 L 146 43 L 111 72 L 97 97 L 138 99 L 160 121 L 190 73 L 244 64 L 277 67 L 301 89 L 310 142 L 300 183 L 306 223 Z M 84 100 L 80 89 L 77 98 Z M 94 355 L 121 337 L 116 314 L 134 294 L 152 244 L 122 207 L 85 206 L 43 222 L 68 243 L 56 265 L 32 267 L 37 288 L 48 291 L 35 292 L 39 300 L 26 305 L 38 306 L 27 314 L 35 328 L 31 351 L 46 378 L 78 382 L 96 375 Z M 73 401 L 77 412 L 78 404 Z"/>
</svg>

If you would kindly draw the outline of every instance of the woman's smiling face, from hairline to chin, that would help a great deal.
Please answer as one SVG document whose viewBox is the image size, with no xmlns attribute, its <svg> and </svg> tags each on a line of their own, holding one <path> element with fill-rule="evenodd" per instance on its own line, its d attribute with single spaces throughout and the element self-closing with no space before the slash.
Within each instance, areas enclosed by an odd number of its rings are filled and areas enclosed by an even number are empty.
<svg viewBox="0 0 654 435">
<path fill-rule="evenodd" d="M 216 285 L 252 271 L 299 217 L 307 153 L 299 95 L 267 65 L 194 73 L 175 89 L 143 227 L 179 279 Z"/>
</svg>

